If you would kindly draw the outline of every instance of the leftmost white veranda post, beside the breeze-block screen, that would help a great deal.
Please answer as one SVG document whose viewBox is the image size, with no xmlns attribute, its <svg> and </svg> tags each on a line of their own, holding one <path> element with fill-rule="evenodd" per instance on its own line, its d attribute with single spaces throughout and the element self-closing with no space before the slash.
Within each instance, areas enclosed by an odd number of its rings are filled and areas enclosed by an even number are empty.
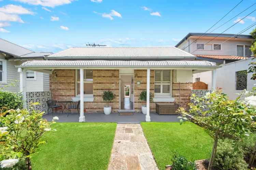
<svg viewBox="0 0 256 170">
<path fill-rule="evenodd" d="M 18 68 L 19 72 L 19 88 L 23 95 L 23 108 L 27 108 L 27 84 L 26 84 L 26 71 L 25 69 Z"/>
</svg>

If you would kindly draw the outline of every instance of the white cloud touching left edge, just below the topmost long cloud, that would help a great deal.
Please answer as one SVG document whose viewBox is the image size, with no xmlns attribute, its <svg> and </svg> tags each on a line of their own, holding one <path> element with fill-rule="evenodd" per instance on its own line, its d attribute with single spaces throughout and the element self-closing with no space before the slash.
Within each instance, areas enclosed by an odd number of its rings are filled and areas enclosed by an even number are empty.
<svg viewBox="0 0 256 170">
<path fill-rule="evenodd" d="M 17 6 L 13 4 L 5 5 L 3 7 L 0 7 L 0 12 L 7 13 L 7 14 L 30 14 L 33 15 L 34 13 L 27 10 L 26 8 L 22 6 Z"/>
</svg>

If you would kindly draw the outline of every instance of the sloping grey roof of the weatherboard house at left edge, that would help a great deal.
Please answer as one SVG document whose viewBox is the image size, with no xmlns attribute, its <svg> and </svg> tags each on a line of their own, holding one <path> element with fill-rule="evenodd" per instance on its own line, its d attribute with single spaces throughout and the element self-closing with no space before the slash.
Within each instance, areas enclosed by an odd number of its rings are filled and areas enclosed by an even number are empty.
<svg viewBox="0 0 256 170">
<path fill-rule="evenodd" d="M 18 56 L 33 52 L 31 50 L 28 50 L 24 47 L 13 44 L 2 38 L 0 38 L 0 51 L 6 52 L 9 54 L 18 55 Z"/>
</svg>

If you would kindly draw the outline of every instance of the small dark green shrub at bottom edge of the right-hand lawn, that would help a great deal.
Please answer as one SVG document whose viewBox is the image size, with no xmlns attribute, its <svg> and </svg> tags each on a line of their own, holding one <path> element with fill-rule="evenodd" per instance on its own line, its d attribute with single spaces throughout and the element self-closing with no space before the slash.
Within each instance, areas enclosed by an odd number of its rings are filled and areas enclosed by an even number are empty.
<svg viewBox="0 0 256 170">
<path fill-rule="evenodd" d="M 174 153 L 172 157 L 172 170 L 197 170 L 195 162 L 188 161 L 185 156 Z"/>
</svg>

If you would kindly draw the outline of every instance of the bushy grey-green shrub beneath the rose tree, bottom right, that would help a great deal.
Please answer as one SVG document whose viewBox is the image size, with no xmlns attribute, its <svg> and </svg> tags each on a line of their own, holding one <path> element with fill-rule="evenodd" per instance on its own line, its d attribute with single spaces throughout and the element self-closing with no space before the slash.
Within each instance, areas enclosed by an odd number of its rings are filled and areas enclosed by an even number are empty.
<svg viewBox="0 0 256 170">
<path fill-rule="evenodd" d="M 244 161 L 244 151 L 239 145 L 234 147 L 230 139 L 218 143 L 213 167 L 223 170 L 245 170 L 248 164 Z"/>
</svg>

